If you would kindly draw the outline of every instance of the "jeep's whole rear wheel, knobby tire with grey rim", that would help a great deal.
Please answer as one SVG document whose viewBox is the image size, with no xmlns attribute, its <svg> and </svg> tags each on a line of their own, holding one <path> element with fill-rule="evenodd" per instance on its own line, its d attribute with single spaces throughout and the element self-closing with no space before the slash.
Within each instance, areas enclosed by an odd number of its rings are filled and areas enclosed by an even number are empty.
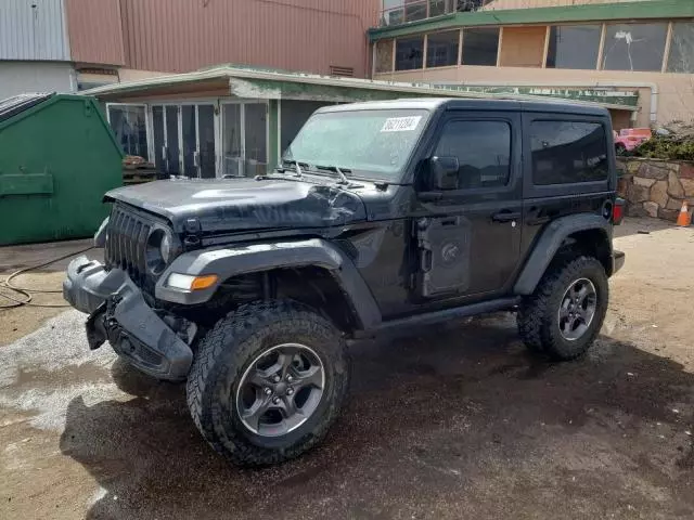
<svg viewBox="0 0 694 520">
<path fill-rule="evenodd" d="M 592 257 L 560 259 L 518 310 L 518 333 L 526 347 L 557 361 L 586 353 L 607 313 L 609 285 Z"/>
</svg>

